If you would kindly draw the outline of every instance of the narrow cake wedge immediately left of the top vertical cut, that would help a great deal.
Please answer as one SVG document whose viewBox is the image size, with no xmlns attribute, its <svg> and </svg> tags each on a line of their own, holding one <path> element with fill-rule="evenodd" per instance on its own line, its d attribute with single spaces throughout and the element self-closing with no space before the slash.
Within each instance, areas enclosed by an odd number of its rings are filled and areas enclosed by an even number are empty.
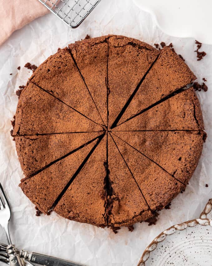
<svg viewBox="0 0 212 266">
<path fill-rule="evenodd" d="M 85 39 L 69 44 L 77 67 L 81 72 L 85 84 L 107 125 L 107 62 L 108 36 Z M 98 88 L 98 89 L 97 89 Z"/>
</svg>

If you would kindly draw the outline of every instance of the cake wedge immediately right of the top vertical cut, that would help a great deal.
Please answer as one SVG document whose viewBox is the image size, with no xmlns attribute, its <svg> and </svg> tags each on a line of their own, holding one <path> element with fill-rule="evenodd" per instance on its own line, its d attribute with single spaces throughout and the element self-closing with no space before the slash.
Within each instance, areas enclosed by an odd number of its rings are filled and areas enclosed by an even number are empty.
<svg viewBox="0 0 212 266">
<path fill-rule="evenodd" d="M 159 51 L 147 43 L 124 36 L 108 39 L 108 111 L 111 127 Z"/>
</svg>

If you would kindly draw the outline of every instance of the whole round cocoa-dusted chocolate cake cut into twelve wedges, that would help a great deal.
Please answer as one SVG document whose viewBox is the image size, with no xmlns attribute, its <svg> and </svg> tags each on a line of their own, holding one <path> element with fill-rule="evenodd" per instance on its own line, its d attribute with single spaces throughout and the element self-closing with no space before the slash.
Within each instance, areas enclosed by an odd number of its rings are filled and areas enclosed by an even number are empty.
<svg viewBox="0 0 212 266">
<path fill-rule="evenodd" d="M 86 39 L 32 74 L 13 136 L 36 207 L 100 227 L 132 226 L 185 190 L 206 137 L 196 79 L 170 48 Z"/>
</svg>

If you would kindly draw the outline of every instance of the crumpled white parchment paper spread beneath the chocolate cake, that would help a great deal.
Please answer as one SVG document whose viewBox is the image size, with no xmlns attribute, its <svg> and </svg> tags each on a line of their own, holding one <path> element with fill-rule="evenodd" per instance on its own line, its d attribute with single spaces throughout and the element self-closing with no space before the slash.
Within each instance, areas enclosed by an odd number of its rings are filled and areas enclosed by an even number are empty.
<svg viewBox="0 0 212 266">
<path fill-rule="evenodd" d="M 160 212 L 155 226 L 137 223 L 132 233 L 128 232 L 128 228 L 122 228 L 116 235 L 110 229 L 65 220 L 54 212 L 50 216 L 36 217 L 34 205 L 18 187 L 24 176 L 15 142 L 10 136 L 10 120 L 18 102 L 15 92 L 19 85 L 26 84 L 32 74 L 31 70 L 23 67 L 24 64 L 39 65 L 58 47 L 63 48 L 86 34 L 96 37 L 109 33 L 138 38 L 150 44 L 172 42 L 199 82 L 203 77 L 207 79 L 209 88 L 206 93 L 197 92 L 208 138 L 189 186 L 172 201 L 170 210 Z M 207 55 L 201 61 L 196 60 L 195 48 L 194 39 L 178 39 L 163 34 L 149 14 L 140 11 L 128 0 L 102 0 L 77 29 L 67 27 L 52 14 L 45 15 L 13 33 L 0 47 L 0 180 L 12 206 L 9 228 L 17 248 L 88 266 L 137 265 L 145 247 L 161 231 L 173 224 L 199 217 L 212 197 L 212 46 L 202 46 Z M 21 66 L 20 71 L 17 70 L 18 66 Z M 0 240 L 5 243 L 3 235 Z"/>
</svg>

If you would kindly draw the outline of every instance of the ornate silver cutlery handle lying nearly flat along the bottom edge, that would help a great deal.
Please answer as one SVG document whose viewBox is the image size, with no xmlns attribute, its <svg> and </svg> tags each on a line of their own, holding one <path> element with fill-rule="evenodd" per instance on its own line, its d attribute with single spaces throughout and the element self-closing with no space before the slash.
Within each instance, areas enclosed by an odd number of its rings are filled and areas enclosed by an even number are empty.
<svg viewBox="0 0 212 266">
<path fill-rule="evenodd" d="M 34 252 L 29 253 L 24 250 L 21 250 L 19 255 L 21 258 L 25 258 L 26 260 L 29 260 L 31 263 L 36 263 L 45 266 L 83 266 L 82 264 L 75 263 L 72 261 L 55 258 Z"/>
</svg>

